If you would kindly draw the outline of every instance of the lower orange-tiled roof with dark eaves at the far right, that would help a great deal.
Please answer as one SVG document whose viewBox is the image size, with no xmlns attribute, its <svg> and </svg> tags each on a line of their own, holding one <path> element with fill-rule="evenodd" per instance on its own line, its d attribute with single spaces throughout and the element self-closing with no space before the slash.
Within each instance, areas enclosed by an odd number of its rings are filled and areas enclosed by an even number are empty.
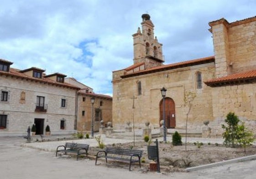
<svg viewBox="0 0 256 179">
<path fill-rule="evenodd" d="M 234 73 L 225 77 L 220 77 L 216 79 L 211 79 L 205 81 L 204 83 L 210 87 L 219 87 L 225 85 L 234 85 L 241 83 L 251 83 L 256 82 L 256 70 Z"/>
</svg>

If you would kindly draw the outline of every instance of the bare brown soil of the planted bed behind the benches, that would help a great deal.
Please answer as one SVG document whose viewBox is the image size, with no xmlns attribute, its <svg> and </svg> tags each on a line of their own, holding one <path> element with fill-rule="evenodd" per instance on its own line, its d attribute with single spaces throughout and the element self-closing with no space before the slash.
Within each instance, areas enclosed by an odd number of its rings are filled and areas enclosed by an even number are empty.
<svg viewBox="0 0 256 179">
<path fill-rule="evenodd" d="M 152 143 L 151 145 L 155 145 Z M 256 146 L 244 148 L 229 148 L 220 144 L 204 143 L 199 146 L 199 143 L 188 143 L 187 151 L 185 151 L 185 145 L 173 146 L 171 143 L 158 143 L 161 172 L 183 172 L 185 168 L 195 167 L 204 164 L 211 164 L 215 162 L 221 162 L 224 160 L 235 159 L 243 156 L 256 154 Z M 152 160 L 147 158 L 147 143 L 137 141 L 134 143 L 115 143 L 112 145 L 106 145 L 106 147 L 119 147 L 119 148 L 132 148 L 143 150 L 142 160 L 145 161 L 144 167 L 141 168 L 144 172 L 149 169 L 149 163 Z M 89 149 L 90 155 L 96 155 L 101 150 L 97 147 Z M 110 162 L 111 164 L 111 162 Z M 127 167 L 126 164 L 108 165 L 108 167 Z"/>
</svg>

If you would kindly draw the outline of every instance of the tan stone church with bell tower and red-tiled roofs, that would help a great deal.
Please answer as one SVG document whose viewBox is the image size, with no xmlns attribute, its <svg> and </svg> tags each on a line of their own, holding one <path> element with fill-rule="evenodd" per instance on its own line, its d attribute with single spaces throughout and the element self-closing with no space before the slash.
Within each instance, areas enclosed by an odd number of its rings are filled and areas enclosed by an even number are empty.
<svg viewBox="0 0 256 179">
<path fill-rule="evenodd" d="M 185 128 L 187 92 L 195 94 L 188 128 L 200 130 L 209 121 L 218 134 L 229 112 L 256 128 L 256 16 L 235 22 L 209 22 L 214 56 L 163 64 L 162 44 L 154 34 L 150 15 L 133 34 L 133 65 L 113 72 L 113 126 L 127 122 L 143 128 Z M 161 88 L 166 98 L 163 111 Z"/>
</svg>

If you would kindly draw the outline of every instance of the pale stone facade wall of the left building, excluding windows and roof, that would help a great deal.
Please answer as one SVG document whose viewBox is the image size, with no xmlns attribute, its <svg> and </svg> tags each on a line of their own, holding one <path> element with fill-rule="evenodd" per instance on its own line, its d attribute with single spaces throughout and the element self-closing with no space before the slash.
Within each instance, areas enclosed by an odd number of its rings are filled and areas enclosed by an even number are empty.
<svg viewBox="0 0 256 179">
<path fill-rule="evenodd" d="M 74 132 L 75 89 L 1 76 L 0 90 L 10 95 L 8 102 L 0 102 L 0 114 L 7 115 L 7 128 L 0 129 L 0 135 L 26 135 L 35 118 L 44 119 L 44 133 L 47 124 L 52 134 Z M 35 112 L 37 96 L 45 97 L 47 112 Z M 61 107 L 61 99 L 66 99 L 66 107 Z M 65 120 L 65 129 L 60 129 L 61 119 Z"/>
</svg>

